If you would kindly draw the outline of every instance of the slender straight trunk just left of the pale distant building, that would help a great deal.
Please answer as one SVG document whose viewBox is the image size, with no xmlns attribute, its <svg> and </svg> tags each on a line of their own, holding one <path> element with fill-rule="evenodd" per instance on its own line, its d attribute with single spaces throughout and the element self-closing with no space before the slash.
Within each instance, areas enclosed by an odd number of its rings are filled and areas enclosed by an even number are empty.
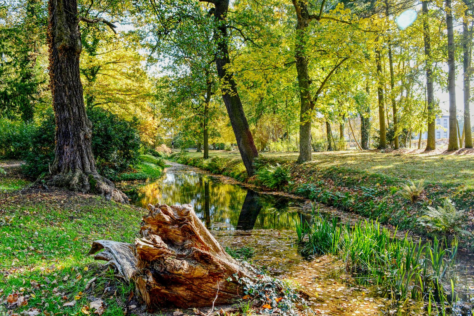
<svg viewBox="0 0 474 316">
<path fill-rule="evenodd" d="M 425 68 L 426 68 L 426 92 L 428 103 L 428 132 L 425 150 L 434 150 L 436 148 L 435 141 L 435 104 L 434 104 L 434 90 L 433 90 L 433 70 L 431 63 L 431 39 L 429 36 L 428 23 L 428 1 L 422 1 L 423 11 L 423 38 L 425 42 Z"/>
</svg>

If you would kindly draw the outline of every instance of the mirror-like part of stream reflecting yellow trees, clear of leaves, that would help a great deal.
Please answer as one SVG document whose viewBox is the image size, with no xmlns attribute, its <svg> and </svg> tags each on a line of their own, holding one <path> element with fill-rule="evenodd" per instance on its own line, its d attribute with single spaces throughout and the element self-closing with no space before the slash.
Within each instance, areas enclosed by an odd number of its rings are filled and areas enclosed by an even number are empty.
<svg viewBox="0 0 474 316">
<path fill-rule="evenodd" d="M 170 171 L 154 183 L 127 192 L 142 208 L 151 204 L 191 204 L 212 229 L 293 228 L 300 219 L 294 200 L 259 194 L 196 172 Z"/>
</svg>

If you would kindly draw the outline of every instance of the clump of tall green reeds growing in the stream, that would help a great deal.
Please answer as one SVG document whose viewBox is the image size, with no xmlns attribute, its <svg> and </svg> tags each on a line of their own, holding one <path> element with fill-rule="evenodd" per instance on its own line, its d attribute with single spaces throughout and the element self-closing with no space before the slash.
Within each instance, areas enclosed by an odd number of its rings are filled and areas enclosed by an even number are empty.
<svg viewBox="0 0 474 316">
<path fill-rule="evenodd" d="M 396 306 L 408 299 L 433 299 L 451 306 L 456 300 L 456 238 L 451 244 L 437 238 L 423 244 L 408 235 L 396 238 L 396 232 L 378 221 L 338 226 L 334 217 L 319 214 L 311 223 L 301 220 L 295 226 L 303 254 L 337 254 L 357 283 L 376 285 L 379 294 L 392 298 Z"/>
</svg>

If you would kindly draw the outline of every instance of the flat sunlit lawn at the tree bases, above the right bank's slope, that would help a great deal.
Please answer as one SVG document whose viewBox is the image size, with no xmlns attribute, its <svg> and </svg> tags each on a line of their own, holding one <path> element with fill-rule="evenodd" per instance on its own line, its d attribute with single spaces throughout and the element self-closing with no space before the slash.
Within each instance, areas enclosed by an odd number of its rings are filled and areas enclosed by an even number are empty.
<svg viewBox="0 0 474 316">
<path fill-rule="evenodd" d="M 211 156 L 240 158 L 238 151 L 210 151 Z M 263 153 L 266 157 L 293 162 L 299 153 Z M 191 152 L 192 156 L 202 153 Z M 429 183 L 445 182 L 474 185 L 474 155 L 380 153 L 379 151 L 345 151 L 313 153 L 312 165 L 320 168 L 343 166 L 369 173 L 382 173 L 400 179 L 425 179 Z"/>
</svg>

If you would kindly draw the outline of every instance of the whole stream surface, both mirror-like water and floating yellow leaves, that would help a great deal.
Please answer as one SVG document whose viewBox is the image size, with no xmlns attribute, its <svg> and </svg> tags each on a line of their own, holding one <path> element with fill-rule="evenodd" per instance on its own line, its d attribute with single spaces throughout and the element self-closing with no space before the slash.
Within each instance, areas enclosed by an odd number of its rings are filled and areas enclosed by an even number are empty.
<svg viewBox="0 0 474 316">
<path fill-rule="evenodd" d="M 301 218 L 310 220 L 309 200 L 258 192 L 228 177 L 169 164 L 155 182 L 122 187 L 132 204 L 142 208 L 148 203 L 191 204 L 223 247 L 254 248 L 255 254 L 249 261 L 255 266 L 301 287 L 316 315 L 395 315 L 389 301 L 378 297 L 379 289 L 357 285 L 346 275 L 341 260 L 330 255 L 309 259 L 301 256 L 294 226 Z M 334 214 L 341 223 L 353 224 L 363 219 L 323 205 L 319 211 Z M 463 253 L 460 257 L 458 284 L 469 297 L 474 290 L 474 258 Z M 409 314 L 398 315 L 427 314 L 423 308 L 410 308 Z"/>
</svg>

